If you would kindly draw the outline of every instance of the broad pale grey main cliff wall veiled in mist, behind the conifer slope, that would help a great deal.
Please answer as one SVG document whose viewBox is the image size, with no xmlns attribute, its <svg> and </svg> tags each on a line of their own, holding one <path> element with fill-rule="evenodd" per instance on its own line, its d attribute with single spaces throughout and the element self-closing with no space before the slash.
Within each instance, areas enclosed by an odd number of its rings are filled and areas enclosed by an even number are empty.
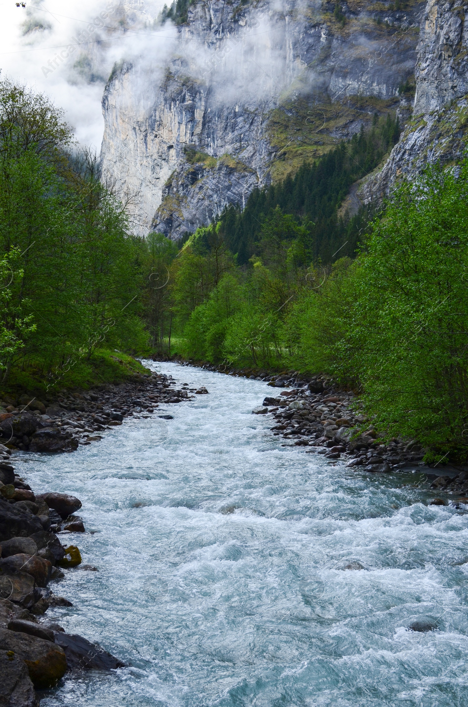
<svg viewBox="0 0 468 707">
<path fill-rule="evenodd" d="M 281 10 L 199 0 L 187 24 L 172 28 L 160 69 L 152 60 L 151 70 L 116 67 L 103 97 L 103 175 L 121 197 L 138 194 L 136 230 L 180 238 L 269 184 L 272 165 L 305 139 L 298 127 L 274 133 L 278 106 L 292 120 L 288 105 L 307 100 L 302 129 L 315 146 L 358 132 L 385 102 L 396 108 L 399 85 L 414 71 L 424 9 L 407 6 L 370 11 L 350 0 L 343 24 L 335 4 L 321 0 L 286 0 Z M 350 100 L 362 117 L 355 110 L 334 120 L 334 108 L 338 115 Z M 321 113 L 308 118 L 322 104 L 332 107 L 323 127 Z"/>
</svg>

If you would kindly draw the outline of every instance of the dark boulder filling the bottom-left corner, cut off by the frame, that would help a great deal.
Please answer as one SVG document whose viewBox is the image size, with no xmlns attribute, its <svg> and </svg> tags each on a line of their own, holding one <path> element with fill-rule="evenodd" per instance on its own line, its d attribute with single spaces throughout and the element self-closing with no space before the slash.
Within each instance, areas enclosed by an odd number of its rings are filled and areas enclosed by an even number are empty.
<svg viewBox="0 0 468 707">
<path fill-rule="evenodd" d="M 10 650 L 0 650 L 0 705 L 37 707 L 39 701 L 24 660 Z"/>
</svg>

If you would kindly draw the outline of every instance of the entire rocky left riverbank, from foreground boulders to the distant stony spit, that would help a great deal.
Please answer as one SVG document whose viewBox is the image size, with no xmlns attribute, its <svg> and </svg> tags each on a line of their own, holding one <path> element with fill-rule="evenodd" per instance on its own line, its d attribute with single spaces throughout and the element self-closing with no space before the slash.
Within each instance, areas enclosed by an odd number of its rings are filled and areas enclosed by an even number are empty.
<svg viewBox="0 0 468 707">
<path fill-rule="evenodd" d="M 159 403 L 182 402 L 190 392 L 207 391 L 177 389 L 171 376 L 148 373 L 43 401 L 28 396 L 0 401 L 0 704 L 34 707 L 35 690 L 56 685 L 66 673 L 124 667 L 99 645 L 45 618 L 49 607 L 71 606 L 54 592 L 64 571 L 98 568 L 81 564 L 78 547 L 64 544 L 69 532 L 86 532 L 76 515 L 81 501 L 65 493 L 34 493 L 15 473 L 14 451 L 73 452 L 98 442 L 124 417 L 149 416 Z"/>
</svg>

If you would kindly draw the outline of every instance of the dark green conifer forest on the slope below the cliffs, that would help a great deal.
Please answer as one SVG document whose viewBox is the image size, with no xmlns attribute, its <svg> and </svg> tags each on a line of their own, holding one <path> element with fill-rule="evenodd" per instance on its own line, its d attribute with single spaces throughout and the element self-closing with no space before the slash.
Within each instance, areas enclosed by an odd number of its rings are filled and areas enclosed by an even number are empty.
<svg viewBox="0 0 468 707">
<path fill-rule="evenodd" d="M 226 209 L 221 228 L 238 264 L 245 264 L 257 252 L 263 223 L 276 207 L 306 225 L 309 262 L 319 258 L 329 262 L 338 249 L 340 256 L 352 257 L 365 214 L 361 211 L 351 220 L 340 218 L 339 206 L 353 182 L 370 173 L 394 146 L 399 132 L 398 119 L 375 115 L 370 131 L 361 129 L 314 163 L 304 163 L 293 178 L 286 177 L 268 189 L 255 189 L 243 211 L 238 206 Z"/>
</svg>

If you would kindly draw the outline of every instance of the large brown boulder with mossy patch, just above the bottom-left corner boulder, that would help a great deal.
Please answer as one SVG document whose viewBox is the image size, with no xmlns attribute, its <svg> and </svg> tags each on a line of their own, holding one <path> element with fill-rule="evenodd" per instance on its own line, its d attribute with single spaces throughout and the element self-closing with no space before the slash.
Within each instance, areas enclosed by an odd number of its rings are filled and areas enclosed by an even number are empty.
<svg viewBox="0 0 468 707">
<path fill-rule="evenodd" d="M 37 689 L 53 687 L 66 672 L 64 650 L 56 643 L 28 636 L 27 633 L 0 629 L 0 650 L 13 651 L 14 655 L 24 660 Z"/>
</svg>

